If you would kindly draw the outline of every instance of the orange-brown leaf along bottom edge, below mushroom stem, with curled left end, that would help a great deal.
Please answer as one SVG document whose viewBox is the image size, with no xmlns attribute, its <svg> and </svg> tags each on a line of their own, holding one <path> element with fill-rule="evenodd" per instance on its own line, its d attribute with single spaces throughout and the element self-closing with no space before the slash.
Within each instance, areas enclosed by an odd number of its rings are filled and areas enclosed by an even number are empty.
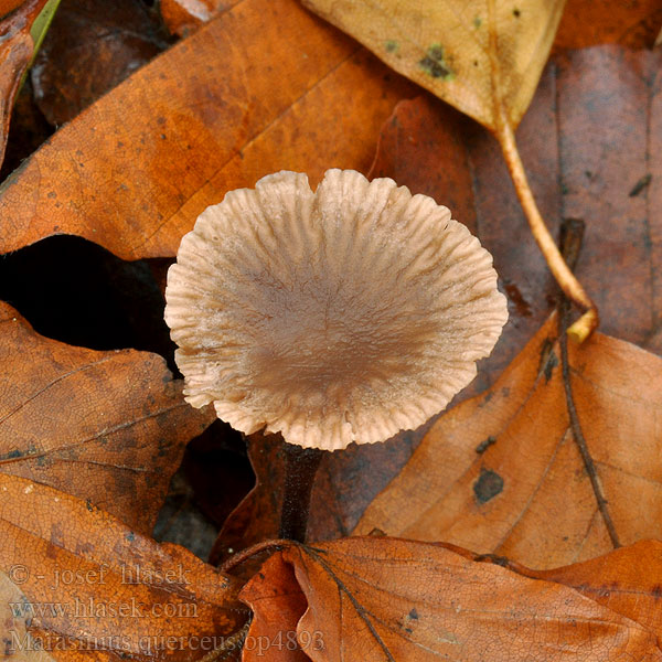
<svg viewBox="0 0 662 662">
<path fill-rule="evenodd" d="M 357 537 L 278 555 L 239 594 L 255 609 L 248 640 L 267 654 L 296 629 L 314 662 L 662 660 L 654 632 L 598 601 L 442 545 Z M 287 610 L 278 629 L 279 606 L 288 595 L 292 606 L 300 600 L 284 562 L 308 609 L 300 619 L 300 607 Z M 302 658 L 275 651 L 267 659 Z"/>
</svg>

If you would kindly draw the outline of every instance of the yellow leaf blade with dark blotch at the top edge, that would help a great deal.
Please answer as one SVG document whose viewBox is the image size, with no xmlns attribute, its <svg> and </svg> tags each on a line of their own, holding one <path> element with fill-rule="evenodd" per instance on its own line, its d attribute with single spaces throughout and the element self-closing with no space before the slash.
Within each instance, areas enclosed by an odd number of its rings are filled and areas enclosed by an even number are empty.
<svg viewBox="0 0 662 662">
<path fill-rule="evenodd" d="M 495 129 L 526 111 L 565 0 L 303 0 L 395 71 Z M 491 7 L 492 6 L 492 7 Z M 492 34 L 496 39 L 492 39 Z M 494 97 L 492 70 L 500 74 Z"/>
</svg>

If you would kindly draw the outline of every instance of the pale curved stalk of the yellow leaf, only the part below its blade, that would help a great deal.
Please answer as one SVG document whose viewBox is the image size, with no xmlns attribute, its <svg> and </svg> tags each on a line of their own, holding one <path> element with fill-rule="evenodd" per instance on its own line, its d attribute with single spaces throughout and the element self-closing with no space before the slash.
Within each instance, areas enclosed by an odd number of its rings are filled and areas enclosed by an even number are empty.
<svg viewBox="0 0 662 662">
<path fill-rule="evenodd" d="M 517 151 L 517 145 L 515 142 L 515 135 L 510 125 L 510 121 L 505 116 L 500 118 L 498 121 L 495 136 L 501 145 L 508 169 L 510 171 L 517 197 L 533 237 L 535 238 L 552 275 L 556 279 L 556 282 L 565 293 L 565 296 L 579 306 L 585 312 L 584 314 L 572 324 L 567 333 L 573 340 L 577 342 L 584 342 L 597 328 L 599 323 L 598 309 L 596 305 L 590 300 L 590 297 L 586 293 L 586 290 L 581 287 L 581 284 L 577 280 L 576 276 L 568 268 L 567 264 L 563 259 L 556 243 L 554 242 L 549 229 L 545 225 L 531 188 L 528 180 L 526 179 L 526 172 Z"/>
</svg>

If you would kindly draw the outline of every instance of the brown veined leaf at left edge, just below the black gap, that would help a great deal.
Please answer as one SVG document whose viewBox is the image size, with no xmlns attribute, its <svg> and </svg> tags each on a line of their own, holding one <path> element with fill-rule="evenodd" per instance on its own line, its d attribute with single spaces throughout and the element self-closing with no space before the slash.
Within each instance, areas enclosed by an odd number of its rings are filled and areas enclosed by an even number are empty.
<svg viewBox="0 0 662 662">
<path fill-rule="evenodd" d="M 215 419 L 156 354 L 35 333 L 0 302 L 0 472 L 74 494 L 150 532 L 184 446 Z"/>
</svg>

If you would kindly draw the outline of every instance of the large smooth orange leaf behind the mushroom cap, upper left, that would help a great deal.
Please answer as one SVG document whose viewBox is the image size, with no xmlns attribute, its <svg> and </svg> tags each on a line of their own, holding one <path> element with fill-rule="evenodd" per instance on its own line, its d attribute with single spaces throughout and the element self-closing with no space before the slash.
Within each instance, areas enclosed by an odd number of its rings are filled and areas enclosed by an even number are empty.
<svg viewBox="0 0 662 662">
<path fill-rule="evenodd" d="M 296 0 L 243 0 L 9 178 L 0 254 L 66 233 L 125 259 L 174 255 L 227 190 L 280 169 L 314 183 L 332 166 L 367 170 L 378 127 L 410 89 Z"/>
</svg>

